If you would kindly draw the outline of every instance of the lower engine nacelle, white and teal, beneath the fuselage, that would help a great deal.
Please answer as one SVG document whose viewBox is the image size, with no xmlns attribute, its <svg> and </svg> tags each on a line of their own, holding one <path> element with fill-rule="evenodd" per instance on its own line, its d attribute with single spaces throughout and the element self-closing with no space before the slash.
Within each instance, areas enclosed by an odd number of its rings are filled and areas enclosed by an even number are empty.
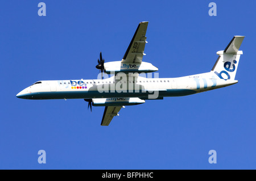
<svg viewBox="0 0 256 181">
<path fill-rule="evenodd" d="M 93 106 L 133 106 L 144 103 L 139 98 L 98 98 L 92 99 Z"/>
</svg>

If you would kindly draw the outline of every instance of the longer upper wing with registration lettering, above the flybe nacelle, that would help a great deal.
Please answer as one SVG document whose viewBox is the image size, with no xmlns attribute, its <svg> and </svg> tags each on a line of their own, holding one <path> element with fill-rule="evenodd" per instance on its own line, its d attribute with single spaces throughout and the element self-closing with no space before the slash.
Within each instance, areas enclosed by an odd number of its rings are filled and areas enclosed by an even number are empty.
<svg viewBox="0 0 256 181">
<path fill-rule="evenodd" d="M 122 63 L 141 63 L 147 43 L 146 31 L 148 22 L 141 22 L 134 33 L 133 39 L 123 56 Z"/>
</svg>

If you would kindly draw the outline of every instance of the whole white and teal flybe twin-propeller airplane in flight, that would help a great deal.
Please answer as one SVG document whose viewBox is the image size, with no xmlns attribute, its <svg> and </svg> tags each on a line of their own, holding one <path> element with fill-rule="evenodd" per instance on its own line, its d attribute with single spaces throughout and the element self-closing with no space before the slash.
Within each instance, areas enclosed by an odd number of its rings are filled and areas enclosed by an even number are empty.
<svg viewBox="0 0 256 181">
<path fill-rule="evenodd" d="M 88 109 L 105 106 L 101 125 L 108 126 L 121 108 L 159 100 L 170 96 L 185 96 L 234 85 L 245 36 L 234 36 L 228 46 L 217 52 L 218 58 L 207 73 L 178 78 L 143 76 L 158 71 L 154 65 L 142 61 L 148 22 L 139 23 L 121 61 L 105 62 L 100 53 L 97 79 L 38 81 L 20 91 L 22 99 L 84 99 Z M 112 77 L 105 78 L 105 75 Z M 104 78 L 104 79 L 103 79 Z M 118 115 L 119 116 L 119 115 Z"/>
</svg>

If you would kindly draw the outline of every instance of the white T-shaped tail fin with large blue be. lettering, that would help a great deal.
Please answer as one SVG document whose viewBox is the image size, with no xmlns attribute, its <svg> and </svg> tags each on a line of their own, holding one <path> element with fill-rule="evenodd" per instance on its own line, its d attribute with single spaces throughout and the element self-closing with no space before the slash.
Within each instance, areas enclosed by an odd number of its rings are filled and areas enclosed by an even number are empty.
<svg viewBox="0 0 256 181">
<path fill-rule="evenodd" d="M 212 71 L 221 79 L 234 80 L 237 73 L 240 55 L 243 54 L 239 50 L 245 36 L 234 36 L 225 50 L 218 51 L 218 59 L 214 64 Z"/>
</svg>

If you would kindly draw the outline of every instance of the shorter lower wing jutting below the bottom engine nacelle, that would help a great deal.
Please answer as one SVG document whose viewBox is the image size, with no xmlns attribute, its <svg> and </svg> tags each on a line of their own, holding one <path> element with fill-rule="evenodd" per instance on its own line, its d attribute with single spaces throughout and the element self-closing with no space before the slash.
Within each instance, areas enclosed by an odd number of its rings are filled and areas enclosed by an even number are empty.
<svg viewBox="0 0 256 181">
<path fill-rule="evenodd" d="M 106 106 L 101 125 L 108 126 L 113 117 L 118 115 L 118 112 L 121 110 L 121 108 L 122 106 Z"/>
</svg>

